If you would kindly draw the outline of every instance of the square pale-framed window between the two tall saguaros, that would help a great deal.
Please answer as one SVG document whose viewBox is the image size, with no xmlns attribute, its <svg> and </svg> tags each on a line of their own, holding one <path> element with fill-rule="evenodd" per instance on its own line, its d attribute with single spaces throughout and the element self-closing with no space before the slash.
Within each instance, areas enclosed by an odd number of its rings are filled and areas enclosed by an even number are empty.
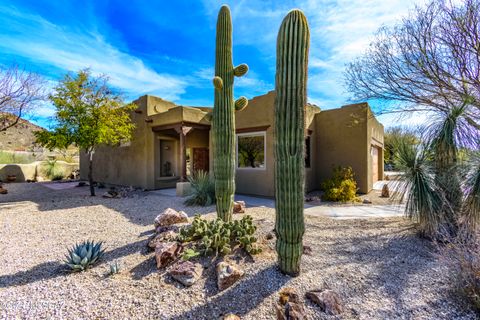
<svg viewBox="0 0 480 320">
<path fill-rule="evenodd" d="M 237 168 L 265 169 L 265 132 L 237 135 Z"/>
</svg>

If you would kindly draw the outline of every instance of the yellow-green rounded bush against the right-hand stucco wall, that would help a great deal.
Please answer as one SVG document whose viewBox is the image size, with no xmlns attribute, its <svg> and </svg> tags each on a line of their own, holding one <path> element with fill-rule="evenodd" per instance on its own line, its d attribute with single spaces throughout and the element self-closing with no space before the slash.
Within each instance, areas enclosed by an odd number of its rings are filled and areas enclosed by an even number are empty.
<svg viewBox="0 0 480 320">
<path fill-rule="evenodd" d="M 357 194 L 357 182 L 354 176 L 351 167 L 333 168 L 332 178 L 322 183 L 323 200 L 340 202 L 354 200 Z"/>
</svg>

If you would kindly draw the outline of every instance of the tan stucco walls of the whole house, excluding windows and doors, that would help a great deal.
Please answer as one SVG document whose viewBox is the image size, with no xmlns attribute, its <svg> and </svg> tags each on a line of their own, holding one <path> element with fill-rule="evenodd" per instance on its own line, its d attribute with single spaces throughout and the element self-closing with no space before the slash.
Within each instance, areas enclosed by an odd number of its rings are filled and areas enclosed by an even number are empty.
<svg viewBox="0 0 480 320">
<path fill-rule="evenodd" d="M 94 179 L 147 189 L 173 187 L 175 179 L 160 178 L 160 139 L 174 141 L 178 153 L 178 136 L 167 131 L 153 132 L 152 127 L 169 128 L 169 125 L 181 122 L 207 125 L 210 123 L 209 109 L 179 107 L 152 96 L 140 97 L 136 103 L 139 108 L 132 113 L 137 126 L 133 140 L 126 146 L 99 148 L 94 156 Z M 237 130 L 256 132 L 260 129 L 255 128 L 266 127 L 266 130 L 262 129 L 266 132 L 266 168 L 237 169 L 238 193 L 274 196 L 274 103 L 275 92 L 271 91 L 251 99 L 245 110 L 236 113 Z M 356 173 L 359 191 L 371 190 L 372 144 L 382 151 L 379 176 L 383 176 L 383 126 L 373 117 L 368 105 L 349 105 L 321 112 L 318 107 L 308 105 L 306 116 L 306 134 L 311 136 L 311 167 L 305 171 L 306 190 L 319 189 L 321 182 L 331 176 L 333 165 L 351 166 Z M 206 128 L 188 133 L 186 146 L 208 147 L 212 172 L 211 131 Z M 87 178 L 87 160 L 82 154 L 82 179 Z M 178 155 L 173 170 L 180 172 Z"/>
</svg>

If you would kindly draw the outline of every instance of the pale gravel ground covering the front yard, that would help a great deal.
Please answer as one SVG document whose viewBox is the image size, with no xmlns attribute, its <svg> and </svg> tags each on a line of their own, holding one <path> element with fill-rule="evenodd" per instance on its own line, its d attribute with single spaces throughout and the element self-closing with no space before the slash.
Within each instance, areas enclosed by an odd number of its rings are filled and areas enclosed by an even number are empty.
<svg viewBox="0 0 480 320">
<path fill-rule="evenodd" d="M 178 199 L 148 192 L 103 199 L 87 196 L 87 187 L 7 188 L 9 194 L 0 195 L 1 319 L 219 319 L 229 312 L 274 319 L 281 288 L 303 296 L 325 286 L 341 295 L 345 312 L 327 316 L 306 301 L 309 319 L 475 319 L 452 293 L 433 248 L 401 218 L 307 217 L 304 242 L 312 254 L 304 255 L 301 275 L 290 278 L 275 267 L 274 240 L 262 236 L 273 229 L 274 210 L 248 208 L 265 250 L 254 259 L 230 257 L 246 275 L 219 293 L 212 261 L 202 259 L 204 277 L 183 288 L 155 268 L 146 250 L 153 219 L 163 209 L 213 217 L 213 207 L 186 208 Z M 87 272 L 68 273 L 66 249 L 84 239 L 105 241 L 106 255 Z M 123 271 L 108 276 L 108 263 L 115 260 Z"/>
</svg>

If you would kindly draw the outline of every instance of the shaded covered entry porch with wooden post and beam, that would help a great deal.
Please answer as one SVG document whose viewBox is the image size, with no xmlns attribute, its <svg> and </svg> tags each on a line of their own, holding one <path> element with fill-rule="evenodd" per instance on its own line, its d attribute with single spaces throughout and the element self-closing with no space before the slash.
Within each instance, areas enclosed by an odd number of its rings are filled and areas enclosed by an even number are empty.
<svg viewBox="0 0 480 320">
<path fill-rule="evenodd" d="M 155 189 L 174 188 L 195 171 L 209 171 L 209 125 L 180 122 L 152 131 Z"/>
</svg>

